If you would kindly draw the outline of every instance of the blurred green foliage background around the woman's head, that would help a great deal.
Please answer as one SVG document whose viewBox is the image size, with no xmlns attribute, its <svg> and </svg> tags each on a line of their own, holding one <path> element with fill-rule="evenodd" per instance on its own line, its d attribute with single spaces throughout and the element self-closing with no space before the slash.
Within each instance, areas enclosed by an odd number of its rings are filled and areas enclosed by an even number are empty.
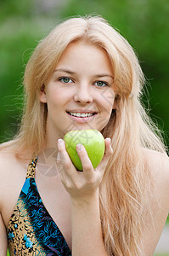
<svg viewBox="0 0 169 256">
<path fill-rule="evenodd" d="M 110 21 L 138 53 L 145 108 L 169 145 L 168 0 L 0 0 L 0 142 L 20 124 L 22 78 L 33 49 L 60 20 L 88 14 Z"/>
</svg>

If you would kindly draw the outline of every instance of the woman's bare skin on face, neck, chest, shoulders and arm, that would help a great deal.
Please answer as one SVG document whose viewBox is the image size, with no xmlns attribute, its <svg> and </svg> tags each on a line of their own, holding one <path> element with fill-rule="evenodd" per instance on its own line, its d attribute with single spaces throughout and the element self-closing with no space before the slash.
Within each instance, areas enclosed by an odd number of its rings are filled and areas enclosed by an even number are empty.
<svg viewBox="0 0 169 256">
<path fill-rule="evenodd" d="M 101 131 L 109 121 L 111 110 L 115 108 L 115 90 L 110 62 L 103 50 L 79 42 L 70 44 L 55 69 L 59 71 L 54 72 L 42 88 L 40 101 L 48 104 L 46 148 L 43 148 L 42 153 L 48 148 L 54 148 L 57 155 L 57 175 L 54 173 L 55 175 L 50 177 L 42 174 L 42 166 L 44 169 L 49 167 L 52 169 L 54 159 L 48 158 L 48 165 L 45 166 L 40 154 L 36 172 L 37 188 L 45 207 L 65 236 L 72 255 L 104 256 L 107 254 L 100 224 L 99 184 L 110 155 L 113 153 L 110 139 L 105 139 L 104 159 L 95 170 L 87 157 L 85 148 L 77 148 L 77 153 L 82 160 L 83 172 L 76 172 L 62 138 L 67 131 L 88 129 L 91 125 L 93 129 Z M 106 76 L 100 77 L 103 74 Z M 63 77 L 66 79 L 61 79 Z M 110 85 L 98 88 L 99 81 Z M 105 96 L 111 98 L 111 101 L 106 101 Z M 91 123 L 77 124 L 66 113 L 66 110 L 72 109 L 90 109 L 97 112 L 97 115 Z M 159 207 L 156 201 L 149 202 L 149 207 L 152 208 L 156 219 L 155 236 L 152 236 L 153 226 L 149 219 L 145 219 L 143 227 L 144 255 L 150 256 L 155 250 L 169 212 L 169 160 L 166 154 L 147 149 L 144 150 L 144 160 L 150 172 L 154 174 L 161 204 Z M 0 152 L 0 252 L 2 256 L 6 256 L 7 250 L 5 227 L 8 226 L 25 181 L 27 165 L 27 160 L 17 159 L 12 150 Z"/>
</svg>

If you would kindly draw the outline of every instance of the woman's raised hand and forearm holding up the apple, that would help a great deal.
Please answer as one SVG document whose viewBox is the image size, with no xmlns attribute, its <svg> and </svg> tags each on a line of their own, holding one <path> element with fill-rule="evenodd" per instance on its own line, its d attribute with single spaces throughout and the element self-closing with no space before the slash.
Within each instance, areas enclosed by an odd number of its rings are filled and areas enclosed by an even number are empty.
<svg viewBox="0 0 169 256">
<path fill-rule="evenodd" d="M 71 200 L 72 255 L 107 255 L 99 212 L 99 184 L 113 153 L 110 138 L 105 139 L 104 158 L 95 169 L 86 149 L 81 144 L 76 146 L 83 172 L 76 171 L 63 140 L 59 140 L 58 148 L 60 178 Z"/>
</svg>

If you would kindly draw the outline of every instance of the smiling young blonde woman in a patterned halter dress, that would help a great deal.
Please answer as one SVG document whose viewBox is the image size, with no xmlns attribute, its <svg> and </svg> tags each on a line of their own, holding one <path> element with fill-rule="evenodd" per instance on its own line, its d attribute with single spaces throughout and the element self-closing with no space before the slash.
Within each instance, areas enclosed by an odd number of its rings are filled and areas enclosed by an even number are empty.
<svg viewBox="0 0 169 256">
<path fill-rule="evenodd" d="M 100 17 L 65 20 L 31 55 L 24 85 L 20 131 L 0 151 L 1 255 L 152 255 L 169 160 L 127 40 Z M 63 137 L 87 129 L 103 134 L 104 158 L 93 169 L 78 144 L 77 172 Z"/>
</svg>

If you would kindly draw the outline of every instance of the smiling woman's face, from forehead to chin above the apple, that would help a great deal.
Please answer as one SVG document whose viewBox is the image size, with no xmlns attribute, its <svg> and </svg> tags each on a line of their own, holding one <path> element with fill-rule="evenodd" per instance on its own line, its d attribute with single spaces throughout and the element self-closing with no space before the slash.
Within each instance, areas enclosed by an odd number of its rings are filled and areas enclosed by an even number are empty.
<svg viewBox="0 0 169 256">
<path fill-rule="evenodd" d="M 48 105 L 47 137 L 67 131 L 107 125 L 114 108 L 113 73 L 103 49 L 91 44 L 70 44 L 41 91 Z"/>
</svg>

